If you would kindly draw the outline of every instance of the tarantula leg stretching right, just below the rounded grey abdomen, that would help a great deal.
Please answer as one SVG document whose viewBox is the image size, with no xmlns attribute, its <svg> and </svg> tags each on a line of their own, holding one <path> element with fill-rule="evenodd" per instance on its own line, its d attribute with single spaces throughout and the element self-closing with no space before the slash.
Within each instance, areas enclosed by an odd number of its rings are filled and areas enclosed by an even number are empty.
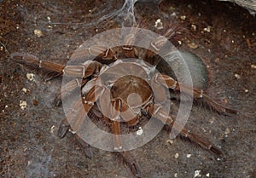
<svg viewBox="0 0 256 178">
<path fill-rule="evenodd" d="M 226 114 L 226 113 L 236 114 L 237 113 L 236 110 L 225 107 L 225 106 L 219 104 L 218 102 L 212 100 L 212 98 L 210 98 L 208 95 L 204 94 L 203 89 L 190 89 L 189 87 L 187 87 L 186 85 L 184 85 L 182 83 L 177 83 L 176 80 L 174 80 L 173 78 L 171 78 L 170 76 L 167 76 L 165 74 L 157 73 L 154 76 L 153 81 L 154 81 L 154 83 L 162 84 L 167 89 L 172 89 L 174 91 L 179 92 L 182 89 L 182 91 L 187 95 L 190 95 L 191 91 L 192 91 L 195 100 L 205 101 L 208 106 L 211 106 L 212 109 L 218 113 L 222 113 L 222 114 Z"/>
</svg>

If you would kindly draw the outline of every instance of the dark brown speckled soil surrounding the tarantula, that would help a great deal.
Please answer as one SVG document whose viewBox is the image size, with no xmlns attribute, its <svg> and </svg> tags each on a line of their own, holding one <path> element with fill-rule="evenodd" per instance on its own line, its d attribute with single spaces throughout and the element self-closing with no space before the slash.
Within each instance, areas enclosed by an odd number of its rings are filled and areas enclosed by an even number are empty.
<svg viewBox="0 0 256 178">
<path fill-rule="evenodd" d="M 239 113 L 228 117 L 195 106 L 187 127 L 220 146 L 224 159 L 180 138 L 170 143 L 162 130 L 131 151 L 143 177 L 256 177 L 255 17 L 233 3 L 166 0 L 158 8 L 152 2 L 136 3 L 137 21 L 160 34 L 168 26 L 181 29 L 173 43 L 181 41 L 178 49 L 201 57 L 209 72 L 209 95 Z M 87 158 L 72 135 L 59 139 L 56 130 L 65 114 L 55 106 L 55 96 L 61 78 L 44 82 L 42 73 L 9 59 L 10 53 L 26 52 L 65 64 L 86 39 L 121 26 L 117 17 L 92 23 L 122 5 L 100 0 L 0 3 L 0 177 L 131 177 L 117 154 L 92 148 L 94 156 Z M 154 27 L 157 19 L 164 30 Z M 26 73 L 34 73 L 34 80 Z"/>
</svg>

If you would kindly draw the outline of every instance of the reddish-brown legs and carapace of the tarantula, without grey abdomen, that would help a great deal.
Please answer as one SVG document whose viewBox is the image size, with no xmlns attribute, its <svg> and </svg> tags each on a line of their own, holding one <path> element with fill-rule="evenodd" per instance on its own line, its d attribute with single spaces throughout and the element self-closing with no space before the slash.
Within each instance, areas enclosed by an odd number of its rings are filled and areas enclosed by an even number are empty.
<svg viewBox="0 0 256 178">
<path fill-rule="evenodd" d="M 79 89 L 81 101 L 69 105 L 71 108 L 61 123 L 58 135 L 63 137 L 68 130 L 79 133 L 85 121 L 82 112 L 93 112 L 102 122 L 108 123 L 113 132 L 113 150 L 121 154 L 137 177 L 142 176 L 141 171 L 135 159 L 123 147 L 120 125 L 124 123 L 134 127 L 143 117 L 156 118 L 190 141 L 221 155 L 221 150 L 211 141 L 193 134 L 176 122 L 176 116 L 170 114 L 170 106 L 166 107 L 162 103 L 168 98 L 169 92 L 178 93 L 183 89 L 185 94 L 194 96 L 195 100 L 205 101 L 219 113 L 236 111 L 218 104 L 203 89 L 190 88 L 186 83 L 179 83 L 171 76 L 157 72 L 155 66 L 161 60 L 160 51 L 173 36 L 172 30 L 152 39 L 148 49 L 134 44 L 137 33 L 137 29 L 131 29 L 121 38 L 120 46 L 109 48 L 99 43 L 79 48 L 72 56 L 73 60 L 81 61 L 79 65 L 64 66 L 21 53 L 12 54 L 11 59 L 26 66 L 38 66 L 54 72 L 55 76 L 72 78 L 64 84 L 62 96 L 65 98 L 73 90 Z"/>
</svg>

